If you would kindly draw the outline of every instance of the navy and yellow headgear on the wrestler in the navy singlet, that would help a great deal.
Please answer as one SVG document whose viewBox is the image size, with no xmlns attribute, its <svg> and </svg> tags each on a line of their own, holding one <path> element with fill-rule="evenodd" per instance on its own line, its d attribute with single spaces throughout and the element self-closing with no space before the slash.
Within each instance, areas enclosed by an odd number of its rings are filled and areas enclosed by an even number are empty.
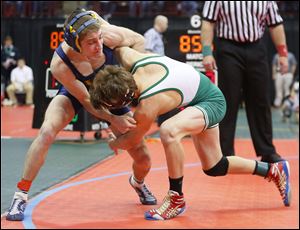
<svg viewBox="0 0 300 230">
<path fill-rule="evenodd" d="M 83 23 L 77 30 L 73 28 L 74 23 L 81 17 L 85 15 L 91 15 L 93 18 Z M 70 23 L 64 28 L 64 39 L 66 43 L 71 46 L 74 50 L 77 52 L 81 52 L 81 47 L 79 45 L 79 33 L 84 30 L 86 27 L 88 27 L 91 24 L 94 24 L 97 22 L 97 17 L 94 13 L 85 11 L 80 14 L 77 14 Z"/>
</svg>

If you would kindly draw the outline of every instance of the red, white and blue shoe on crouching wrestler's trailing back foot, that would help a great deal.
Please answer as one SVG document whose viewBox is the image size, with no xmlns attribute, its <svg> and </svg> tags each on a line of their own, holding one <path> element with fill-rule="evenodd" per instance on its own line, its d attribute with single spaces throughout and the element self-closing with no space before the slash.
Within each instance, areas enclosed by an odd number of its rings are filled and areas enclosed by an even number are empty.
<svg viewBox="0 0 300 230">
<path fill-rule="evenodd" d="M 274 181 L 285 206 L 291 204 L 290 166 L 287 161 L 271 164 L 266 178 Z"/>
</svg>

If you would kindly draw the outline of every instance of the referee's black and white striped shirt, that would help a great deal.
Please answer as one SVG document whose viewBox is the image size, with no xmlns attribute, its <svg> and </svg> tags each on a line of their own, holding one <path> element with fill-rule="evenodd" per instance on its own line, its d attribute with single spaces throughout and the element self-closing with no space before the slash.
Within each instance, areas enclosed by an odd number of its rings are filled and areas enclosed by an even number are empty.
<svg viewBox="0 0 300 230">
<path fill-rule="evenodd" d="M 237 42 L 257 41 L 266 25 L 283 22 L 275 1 L 205 1 L 202 19 L 216 22 L 217 37 Z"/>
</svg>

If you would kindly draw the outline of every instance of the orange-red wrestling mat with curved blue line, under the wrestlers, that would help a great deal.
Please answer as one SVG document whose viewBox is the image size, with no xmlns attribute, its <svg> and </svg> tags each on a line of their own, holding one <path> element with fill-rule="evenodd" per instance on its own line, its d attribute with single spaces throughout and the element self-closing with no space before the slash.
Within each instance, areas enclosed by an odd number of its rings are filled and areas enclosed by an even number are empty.
<svg viewBox="0 0 300 230">
<path fill-rule="evenodd" d="M 183 191 L 187 210 L 168 221 L 144 220 L 143 206 L 128 183 L 131 158 L 123 152 L 30 200 L 23 222 L 2 218 L 1 228 L 299 228 L 299 147 L 276 140 L 291 167 L 292 204 L 284 207 L 274 183 L 251 175 L 208 177 L 187 138 Z M 159 141 L 148 142 L 152 169 L 146 183 L 158 203 L 168 190 L 165 156 Z M 236 140 L 239 156 L 254 159 L 250 140 Z"/>
</svg>

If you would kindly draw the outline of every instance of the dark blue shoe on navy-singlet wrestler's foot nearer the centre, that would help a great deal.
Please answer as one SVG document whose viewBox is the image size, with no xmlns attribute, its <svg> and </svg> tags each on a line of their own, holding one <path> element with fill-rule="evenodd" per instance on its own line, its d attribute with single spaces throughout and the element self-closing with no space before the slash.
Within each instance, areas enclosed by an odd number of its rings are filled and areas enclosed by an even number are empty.
<svg viewBox="0 0 300 230">
<path fill-rule="evenodd" d="M 149 191 L 145 183 L 138 183 L 134 180 L 132 175 L 129 178 L 129 184 L 134 188 L 136 193 L 140 197 L 140 201 L 144 205 L 154 205 L 157 204 L 157 200 L 155 196 Z"/>
</svg>

